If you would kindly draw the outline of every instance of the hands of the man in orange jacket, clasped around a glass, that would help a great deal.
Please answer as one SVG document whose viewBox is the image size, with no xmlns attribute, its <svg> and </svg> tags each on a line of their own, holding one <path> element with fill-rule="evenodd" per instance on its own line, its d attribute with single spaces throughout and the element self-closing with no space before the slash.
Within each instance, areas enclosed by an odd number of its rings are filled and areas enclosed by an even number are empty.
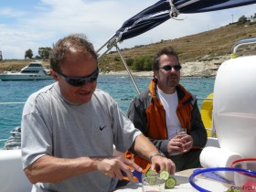
<svg viewBox="0 0 256 192">
<path fill-rule="evenodd" d="M 189 134 L 178 134 L 167 144 L 169 155 L 174 153 L 186 153 L 193 146 L 193 139 Z"/>
</svg>

